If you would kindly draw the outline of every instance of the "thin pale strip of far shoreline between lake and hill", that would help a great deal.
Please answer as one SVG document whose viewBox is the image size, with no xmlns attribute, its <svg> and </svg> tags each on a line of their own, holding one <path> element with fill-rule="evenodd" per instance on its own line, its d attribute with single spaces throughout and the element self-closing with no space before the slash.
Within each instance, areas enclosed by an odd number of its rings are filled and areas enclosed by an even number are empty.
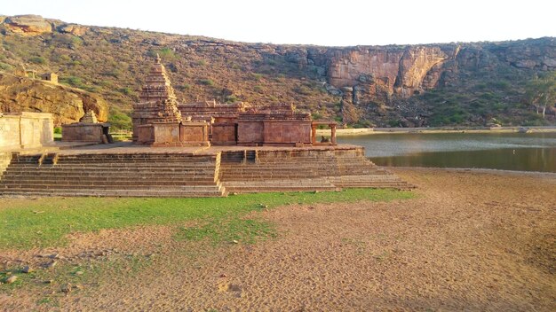
<svg viewBox="0 0 556 312">
<path fill-rule="evenodd" d="M 336 129 L 337 136 L 366 136 L 378 134 L 433 133 L 556 133 L 556 126 L 545 127 L 430 127 L 430 128 L 360 128 Z M 330 129 L 317 129 L 317 136 L 330 135 Z"/>
</svg>

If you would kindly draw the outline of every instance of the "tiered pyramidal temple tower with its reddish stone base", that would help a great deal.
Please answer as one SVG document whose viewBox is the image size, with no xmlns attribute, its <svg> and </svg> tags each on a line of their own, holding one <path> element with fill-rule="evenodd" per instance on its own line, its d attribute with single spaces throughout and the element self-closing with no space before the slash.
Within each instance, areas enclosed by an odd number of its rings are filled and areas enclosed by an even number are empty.
<svg viewBox="0 0 556 312">
<path fill-rule="evenodd" d="M 208 123 L 183 119 L 166 69 L 157 55 L 139 103 L 133 106 L 133 141 L 153 146 L 209 145 Z"/>
</svg>

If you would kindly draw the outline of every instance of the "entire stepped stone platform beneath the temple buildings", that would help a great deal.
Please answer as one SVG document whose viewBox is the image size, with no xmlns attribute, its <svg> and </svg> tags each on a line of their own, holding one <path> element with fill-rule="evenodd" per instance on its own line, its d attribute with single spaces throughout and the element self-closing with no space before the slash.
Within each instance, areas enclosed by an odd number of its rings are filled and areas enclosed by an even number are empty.
<svg viewBox="0 0 556 312">
<path fill-rule="evenodd" d="M 367 160 L 356 145 L 64 148 L 5 156 L 0 196 L 221 197 L 231 192 L 413 188 Z"/>
</svg>

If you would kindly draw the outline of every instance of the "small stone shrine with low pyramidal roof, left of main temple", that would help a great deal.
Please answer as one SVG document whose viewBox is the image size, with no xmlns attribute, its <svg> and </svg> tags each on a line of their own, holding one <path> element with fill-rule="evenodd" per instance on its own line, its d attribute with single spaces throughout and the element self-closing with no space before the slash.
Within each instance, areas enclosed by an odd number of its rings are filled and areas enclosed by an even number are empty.
<svg viewBox="0 0 556 312">
<path fill-rule="evenodd" d="M 97 115 L 89 111 L 81 121 L 62 125 L 62 141 L 113 143 L 109 131 L 110 124 L 97 121 Z"/>
</svg>

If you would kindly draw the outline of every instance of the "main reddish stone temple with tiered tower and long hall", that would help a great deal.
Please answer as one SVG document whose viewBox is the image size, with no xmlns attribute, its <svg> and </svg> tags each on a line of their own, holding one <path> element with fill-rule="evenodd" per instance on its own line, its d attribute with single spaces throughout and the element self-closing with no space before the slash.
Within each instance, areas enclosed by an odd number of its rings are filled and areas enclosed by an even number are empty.
<svg viewBox="0 0 556 312">
<path fill-rule="evenodd" d="M 298 112 L 293 105 L 179 104 L 159 56 L 131 119 L 133 142 L 153 146 L 336 144 L 336 122 L 313 121 L 310 113 Z M 328 142 L 316 142 L 319 125 L 330 126 Z"/>
</svg>

